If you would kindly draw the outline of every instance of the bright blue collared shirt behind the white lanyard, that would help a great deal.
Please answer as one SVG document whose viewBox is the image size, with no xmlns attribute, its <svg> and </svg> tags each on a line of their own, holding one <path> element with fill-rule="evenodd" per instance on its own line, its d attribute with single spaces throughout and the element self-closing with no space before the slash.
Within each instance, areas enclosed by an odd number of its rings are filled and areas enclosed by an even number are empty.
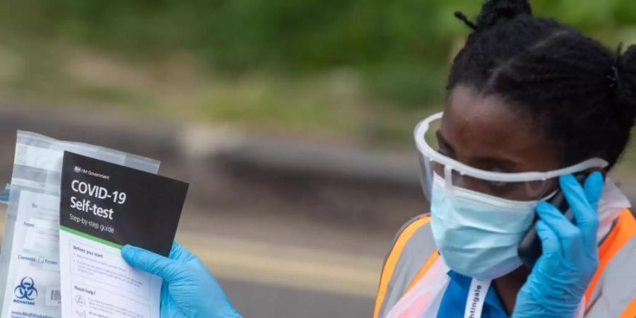
<svg viewBox="0 0 636 318">
<path fill-rule="evenodd" d="M 450 281 L 444 292 L 437 318 L 464 317 L 466 298 L 471 288 L 471 278 L 454 271 L 449 271 Z M 495 285 L 490 284 L 483 303 L 482 318 L 510 318 L 497 296 Z"/>
</svg>

